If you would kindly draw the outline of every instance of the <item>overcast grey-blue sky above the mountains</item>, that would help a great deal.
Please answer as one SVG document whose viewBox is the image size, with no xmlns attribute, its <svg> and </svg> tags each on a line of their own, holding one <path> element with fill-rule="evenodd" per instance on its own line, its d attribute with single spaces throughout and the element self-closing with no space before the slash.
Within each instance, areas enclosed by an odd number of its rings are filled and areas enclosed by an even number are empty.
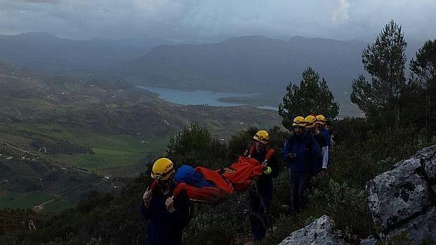
<svg viewBox="0 0 436 245">
<path fill-rule="evenodd" d="M 391 19 L 436 38 L 436 0 L 0 0 L 0 34 L 218 41 L 264 35 L 372 40 Z"/>
</svg>

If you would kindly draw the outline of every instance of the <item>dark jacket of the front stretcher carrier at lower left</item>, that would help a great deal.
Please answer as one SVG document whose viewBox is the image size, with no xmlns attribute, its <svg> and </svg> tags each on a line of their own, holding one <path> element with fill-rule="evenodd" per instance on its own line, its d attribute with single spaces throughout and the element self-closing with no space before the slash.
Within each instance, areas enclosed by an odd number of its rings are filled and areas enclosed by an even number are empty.
<svg viewBox="0 0 436 245">
<path fill-rule="evenodd" d="M 174 197 L 175 211 L 169 213 L 165 201 L 168 197 L 172 197 L 175 187 L 176 185 L 173 184 L 169 194 L 166 195 L 156 188 L 149 208 L 146 208 L 144 202 L 141 204 L 142 216 L 150 220 L 147 227 L 147 245 L 181 244 L 181 234 L 189 223 L 189 198 L 185 191 L 180 192 L 177 197 Z"/>
</svg>

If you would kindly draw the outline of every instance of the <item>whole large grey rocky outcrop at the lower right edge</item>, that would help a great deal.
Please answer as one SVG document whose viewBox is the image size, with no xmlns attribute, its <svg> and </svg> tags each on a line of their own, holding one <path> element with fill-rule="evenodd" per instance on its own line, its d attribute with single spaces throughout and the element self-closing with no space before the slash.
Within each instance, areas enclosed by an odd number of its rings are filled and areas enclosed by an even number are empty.
<svg viewBox="0 0 436 245">
<path fill-rule="evenodd" d="M 436 241 L 435 176 L 436 145 L 368 182 L 368 206 L 383 243 L 396 236 L 411 244 Z"/>
</svg>

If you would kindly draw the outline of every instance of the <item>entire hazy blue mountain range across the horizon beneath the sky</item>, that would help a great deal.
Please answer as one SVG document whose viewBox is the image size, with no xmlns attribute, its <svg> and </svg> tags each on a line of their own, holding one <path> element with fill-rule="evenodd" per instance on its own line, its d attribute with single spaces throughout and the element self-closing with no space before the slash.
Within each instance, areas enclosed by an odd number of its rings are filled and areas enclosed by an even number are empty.
<svg viewBox="0 0 436 245">
<path fill-rule="evenodd" d="M 423 44 L 409 41 L 409 58 Z M 33 72 L 100 77 L 134 85 L 209 91 L 261 93 L 228 98 L 276 107 L 290 81 L 298 83 L 307 67 L 324 77 L 342 105 L 341 114 L 357 115 L 349 93 L 352 79 L 365 74 L 364 41 L 294 37 L 234 37 L 211 44 L 181 44 L 163 39 L 60 39 L 45 32 L 0 35 L 0 60 Z M 406 67 L 408 64 L 406 64 Z"/>
</svg>

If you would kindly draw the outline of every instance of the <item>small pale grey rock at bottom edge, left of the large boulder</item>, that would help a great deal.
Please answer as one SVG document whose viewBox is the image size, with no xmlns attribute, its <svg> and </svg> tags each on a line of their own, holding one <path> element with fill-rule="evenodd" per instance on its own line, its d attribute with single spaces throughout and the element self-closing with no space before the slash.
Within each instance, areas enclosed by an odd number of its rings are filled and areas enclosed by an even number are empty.
<svg viewBox="0 0 436 245">
<path fill-rule="evenodd" d="M 333 234 L 333 220 L 328 216 L 321 216 L 310 225 L 292 232 L 289 237 L 286 237 L 279 245 L 291 244 L 329 244 L 329 245 L 345 245 L 343 239 Z"/>
</svg>

